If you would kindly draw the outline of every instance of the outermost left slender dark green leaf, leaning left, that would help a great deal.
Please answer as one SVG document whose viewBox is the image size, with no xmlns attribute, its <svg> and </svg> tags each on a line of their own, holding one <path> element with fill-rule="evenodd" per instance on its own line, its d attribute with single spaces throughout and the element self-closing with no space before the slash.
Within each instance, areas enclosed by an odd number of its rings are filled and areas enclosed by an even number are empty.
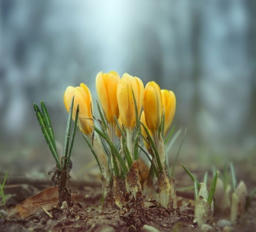
<svg viewBox="0 0 256 232">
<path fill-rule="evenodd" d="M 49 135 L 48 130 L 46 129 L 46 124 L 43 119 L 43 114 L 41 113 L 40 109 L 38 108 L 37 104 L 35 104 L 35 103 L 34 103 L 34 110 L 35 110 L 35 114 L 37 116 L 37 121 L 41 127 L 42 132 L 43 132 L 44 138 L 46 139 L 49 149 L 51 150 L 52 156 L 54 156 L 56 165 L 60 170 L 62 170 L 62 167 L 60 166 L 59 155 L 57 154 L 54 144 L 52 143 L 51 136 Z"/>
</svg>

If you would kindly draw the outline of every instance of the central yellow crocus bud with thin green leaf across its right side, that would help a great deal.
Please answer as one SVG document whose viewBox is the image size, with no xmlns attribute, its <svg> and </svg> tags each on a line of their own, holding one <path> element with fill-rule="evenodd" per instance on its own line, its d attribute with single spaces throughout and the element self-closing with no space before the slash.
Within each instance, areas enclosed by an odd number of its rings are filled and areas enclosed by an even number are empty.
<svg viewBox="0 0 256 232">
<path fill-rule="evenodd" d="M 144 85 L 138 77 L 132 77 L 125 73 L 118 83 L 117 100 L 119 117 L 124 127 L 132 129 L 136 124 L 135 105 L 132 91 L 137 102 L 138 115 L 143 105 Z"/>
</svg>

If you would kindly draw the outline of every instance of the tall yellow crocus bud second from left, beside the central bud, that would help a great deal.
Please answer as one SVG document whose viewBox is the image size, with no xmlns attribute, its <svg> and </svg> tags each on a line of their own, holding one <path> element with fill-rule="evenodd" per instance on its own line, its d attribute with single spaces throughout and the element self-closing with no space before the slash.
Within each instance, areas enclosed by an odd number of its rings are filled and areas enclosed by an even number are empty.
<svg viewBox="0 0 256 232">
<path fill-rule="evenodd" d="M 116 90 L 120 77 L 114 71 L 108 73 L 99 72 L 96 76 L 96 91 L 101 102 L 105 119 L 109 123 L 115 122 L 113 116 L 119 117 Z"/>
</svg>

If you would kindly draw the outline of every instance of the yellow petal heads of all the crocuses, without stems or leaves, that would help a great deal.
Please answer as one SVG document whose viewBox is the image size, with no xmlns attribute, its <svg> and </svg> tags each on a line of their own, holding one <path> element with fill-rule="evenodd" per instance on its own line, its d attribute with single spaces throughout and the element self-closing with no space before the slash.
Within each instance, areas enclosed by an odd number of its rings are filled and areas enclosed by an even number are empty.
<svg viewBox="0 0 256 232">
<path fill-rule="evenodd" d="M 115 116 L 124 128 L 133 130 L 136 124 L 134 94 L 138 114 L 141 114 L 140 119 L 150 132 L 155 133 L 158 130 L 163 113 L 165 114 L 163 134 L 166 135 L 168 132 L 176 110 L 176 97 L 172 91 L 160 90 L 155 82 L 149 82 L 144 88 L 143 82 L 138 77 L 125 73 L 120 79 L 115 71 L 108 74 L 98 73 L 96 91 L 105 119 L 110 125 L 115 125 Z M 79 128 L 82 133 L 91 138 L 94 124 L 90 90 L 84 83 L 78 87 L 68 86 L 64 93 L 67 111 L 73 96 L 75 96 L 73 112 L 76 111 L 76 105 L 80 105 Z M 142 108 L 144 111 L 141 113 Z M 73 113 L 73 119 L 74 117 L 75 113 Z M 143 135 L 146 134 L 143 132 Z"/>
</svg>

